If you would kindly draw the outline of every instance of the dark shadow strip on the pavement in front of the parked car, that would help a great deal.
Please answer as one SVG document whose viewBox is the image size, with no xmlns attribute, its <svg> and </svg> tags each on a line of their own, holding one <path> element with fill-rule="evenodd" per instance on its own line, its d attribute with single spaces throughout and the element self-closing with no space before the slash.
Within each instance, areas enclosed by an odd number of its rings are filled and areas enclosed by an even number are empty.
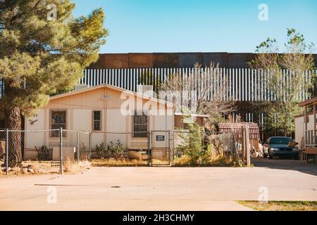
<svg viewBox="0 0 317 225">
<path fill-rule="evenodd" d="M 251 163 L 254 167 L 267 167 L 271 169 L 290 169 L 317 176 L 317 165 L 308 164 L 301 160 L 283 160 L 268 158 L 251 158 Z"/>
</svg>

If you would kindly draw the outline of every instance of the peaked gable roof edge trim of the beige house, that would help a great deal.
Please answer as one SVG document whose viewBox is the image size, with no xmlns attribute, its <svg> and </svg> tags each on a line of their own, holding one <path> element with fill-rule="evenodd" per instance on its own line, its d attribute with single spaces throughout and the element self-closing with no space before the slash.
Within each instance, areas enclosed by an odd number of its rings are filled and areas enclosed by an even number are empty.
<svg viewBox="0 0 317 225">
<path fill-rule="evenodd" d="M 135 91 L 129 91 L 127 89 L 122 89 L 120 87 L 113 86 L 113 85 L 110 85 L 110 84 L 99 84 L 97 86 L 89 86 L 89 87 L 86 87 L 86 88 L 83 88 L 83 89 L 69 91 L 69 92 L 64 93 L 64 94 L 58 94 L 56 96 L 51 96 L 49 98 L 49 100 L 54 100 L 54 99 L 58 99 L 58 98 L 64 98 L 64 97 L 67 97 L 67 96 L 73 96 L 75 94 L 82 94 L 82 93 L 85 93 L 85 92 L 88 92 L 88 91 L 93 91 L 93 90 L 103 89 L 103 88 L 113 89 L 115 91 L 121 91 L 121 92 L 125 91 L 126 93 L 131 94 L 133 96 L 138 96 L 139 98 L 147 99 L 149 101 L 155 101 L 157 103 L 166 104 L 169 107 L 173 107 L 173 103 L 170 103 L 168 101 L 163 101 L 163 100 L 160 100 L 158 98 L 154 98 L 154 97 L 151 97 L 151 96 L 147 96 L 147 95 L 144 95 L 144 94 L 137 93 Z"/>
</svg>

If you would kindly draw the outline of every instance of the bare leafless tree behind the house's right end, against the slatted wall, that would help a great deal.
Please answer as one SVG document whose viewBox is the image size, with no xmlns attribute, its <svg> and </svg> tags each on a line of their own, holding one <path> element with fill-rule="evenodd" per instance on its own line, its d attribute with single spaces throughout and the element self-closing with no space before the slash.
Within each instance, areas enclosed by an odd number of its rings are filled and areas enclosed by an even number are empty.
<svg viewBox="0 0 317 225">
<path fill-rule="evenodd" d="M 196 63 L 187 75 L 177 72 L 168 76 L 159 89 L 166 91 L 166 96 L 160 98 L 173 102 L 177 113 L 210 115 L 206 126 L 216 129 L 216 124 L 223 121 L 222 115 L 235 110 L 226 101 L 229 87 L 228 77 L 218 65 L 211 63 L 203 68 Z"/>
</svg>

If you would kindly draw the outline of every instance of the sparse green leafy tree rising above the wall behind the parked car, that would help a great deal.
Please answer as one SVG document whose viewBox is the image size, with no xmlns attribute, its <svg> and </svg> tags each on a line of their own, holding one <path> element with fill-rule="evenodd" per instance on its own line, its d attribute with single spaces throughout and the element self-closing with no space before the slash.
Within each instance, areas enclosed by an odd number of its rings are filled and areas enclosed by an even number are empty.
<svg viewBox="0 0 317 225">
<path fill-rule="evenodd" d="M 299 96 L 311 96 L 314 84 L 306 80 L 306 70 L 314 71 L 314 60 L 311 54 L 313 44 L 306 44 L 303 34 L 294 29 L 287 30 L 285 51 L 279 53 L 277 41 L 268 38 L 256 47 L 256 57 L 251 60 L 251 68 L 267 71 L 266 84 L 275 101 L 258 105 L 266 112 L 266 129 L 273 129 L 285 136 L 294 132 L 294 115 L 300 113 Z M 285 75 L 281 72 L 286 70 Z M 265 90 L 263 90 L 265 91 Z"/>
</svg>

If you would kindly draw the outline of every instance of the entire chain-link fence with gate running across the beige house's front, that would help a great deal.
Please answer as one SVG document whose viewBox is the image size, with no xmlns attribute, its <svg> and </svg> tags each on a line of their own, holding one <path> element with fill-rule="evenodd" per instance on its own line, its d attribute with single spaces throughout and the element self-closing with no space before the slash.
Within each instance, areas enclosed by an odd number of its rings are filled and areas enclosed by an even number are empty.
<svg viewBox="0 0 317 225">
<path fill-rule="evenodd" d="M 241 150 L 234 133 L 221 134 L 188 130 L 102 132 L 50 129 L 13 131 L 0 129 L 0 166 L 8 174 L 15 165 L 63 173 L 66 162 L 92 159 L 146 160 L 149 165 L 173 165 L 174 158 L 199 143 L 213 157 L 239 160 Z M 13 165 L 15 164 L 15 165 Z"/>
</svg>

